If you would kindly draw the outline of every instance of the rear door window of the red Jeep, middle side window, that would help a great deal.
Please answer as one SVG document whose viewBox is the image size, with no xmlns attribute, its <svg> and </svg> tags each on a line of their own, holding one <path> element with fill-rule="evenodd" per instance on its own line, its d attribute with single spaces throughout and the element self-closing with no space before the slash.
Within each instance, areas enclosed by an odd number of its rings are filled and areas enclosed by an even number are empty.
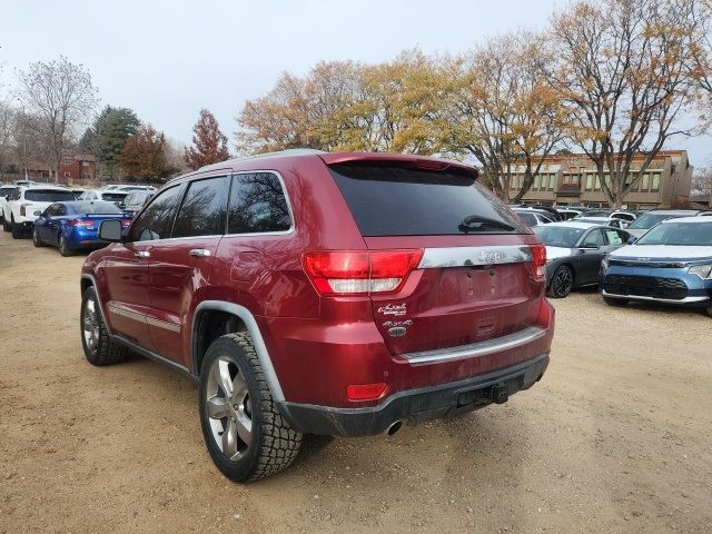
<svg viewBox="0 0 712 534">
<path fill-rule="evenodd" d="M 222 235 L 226 207 L 225 176 L 191 181 L 178 210 L 171 237 Z"/>
</svg>

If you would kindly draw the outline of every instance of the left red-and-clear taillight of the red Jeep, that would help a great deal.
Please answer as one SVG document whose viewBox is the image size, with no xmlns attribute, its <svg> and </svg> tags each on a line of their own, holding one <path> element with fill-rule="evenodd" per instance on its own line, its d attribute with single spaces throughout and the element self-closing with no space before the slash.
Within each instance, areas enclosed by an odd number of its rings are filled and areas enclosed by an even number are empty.
<svg viewBox="0 0 712 534">
<path fill-rule="evenodd" d="M 322 295 L 395 293 L 423 257 L 423 249 L 305 253 L 304 270 Z"/>
</svg>

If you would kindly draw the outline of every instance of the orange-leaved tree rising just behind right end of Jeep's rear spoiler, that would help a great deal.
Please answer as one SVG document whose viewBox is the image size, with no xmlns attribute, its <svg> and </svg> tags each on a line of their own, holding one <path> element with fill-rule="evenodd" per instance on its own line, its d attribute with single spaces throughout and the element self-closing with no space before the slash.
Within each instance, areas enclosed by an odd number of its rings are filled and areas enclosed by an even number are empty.
<svg viewBox="0 0 712 534">
<path fill-rule="evenodd" d="M 510 198 L 515 166 L 524 167 L 523 187 L 532 187 L 545 158 L 563 138 L 565 109 L 545 82 L 553 56 L 540 36 L 520 32 L 487 41 L 449 61 L 453 80 L 445 92 L 447 151 L 473 156 L 483 178 L 501 198 Z"/>
</svg>

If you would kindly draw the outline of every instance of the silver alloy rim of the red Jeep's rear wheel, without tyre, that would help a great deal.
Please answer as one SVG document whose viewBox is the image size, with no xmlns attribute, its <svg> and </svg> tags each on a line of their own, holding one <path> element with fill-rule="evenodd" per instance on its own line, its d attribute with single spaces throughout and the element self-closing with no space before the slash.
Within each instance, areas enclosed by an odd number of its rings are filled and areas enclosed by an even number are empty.
<svg viewBox="0 0 712 534">
<path fill-rule="evenodd" d="M 206 409 L 218 448 L 228 459 L 238 459 L 253 442 L 253 414 L 247 380 L 233 359 L 221 356 L 212 363 Z"/>
</svg>

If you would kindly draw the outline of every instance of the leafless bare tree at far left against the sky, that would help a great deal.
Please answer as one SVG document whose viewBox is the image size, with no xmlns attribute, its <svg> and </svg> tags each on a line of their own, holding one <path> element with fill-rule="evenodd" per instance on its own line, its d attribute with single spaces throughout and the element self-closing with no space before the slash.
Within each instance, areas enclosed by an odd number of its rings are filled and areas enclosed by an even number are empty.
<svg viewBox="0 0 712 534">
<path fill-rule="evenodd" d="M 89 71 L 63 56 L 49 63 L 30 63 L 18 78 L 20 101 L 39 119 L 38 134 L 46 140 L 48 164 L 57 180 L 65 151 L 97 105 L 97 89 Z"/>
</svg>

